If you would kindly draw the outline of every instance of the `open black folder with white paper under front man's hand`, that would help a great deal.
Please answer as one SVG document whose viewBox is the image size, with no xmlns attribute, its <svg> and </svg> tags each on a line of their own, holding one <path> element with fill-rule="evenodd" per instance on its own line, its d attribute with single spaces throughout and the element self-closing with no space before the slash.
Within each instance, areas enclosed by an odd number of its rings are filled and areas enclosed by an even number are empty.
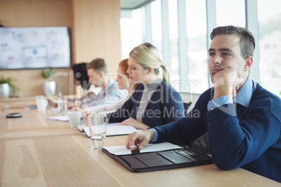
<svg viewBox="0 0 281 187">
<path fill-rule="evenodd" d="M 168 142 L 147 144 L 138 152 L 125 146 L 103 147 L 101 150 L 131 172 L 150 172 L 212 163 L 210 156 Z"/>
</svg>

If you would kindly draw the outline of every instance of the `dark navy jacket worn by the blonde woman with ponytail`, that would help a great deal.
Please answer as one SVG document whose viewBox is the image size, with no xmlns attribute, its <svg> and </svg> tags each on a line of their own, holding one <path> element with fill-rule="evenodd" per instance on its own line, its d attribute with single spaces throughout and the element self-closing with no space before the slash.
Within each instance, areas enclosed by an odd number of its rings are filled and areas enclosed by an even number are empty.
<svg viewBox="0 0 281 187">
<path fill-rule="evenodd" d="M 139 84 L 129 100 L 117 112 L 108 115 L 109 123 L 121 122 L 129 117 L 136 119 L 143 89 L 143 84 Z M 180 93 L 163 81 L 152 94 L 143 113 L 142 122 L 147 126 L 161 126 L 184 116 Z"/>
</svg>

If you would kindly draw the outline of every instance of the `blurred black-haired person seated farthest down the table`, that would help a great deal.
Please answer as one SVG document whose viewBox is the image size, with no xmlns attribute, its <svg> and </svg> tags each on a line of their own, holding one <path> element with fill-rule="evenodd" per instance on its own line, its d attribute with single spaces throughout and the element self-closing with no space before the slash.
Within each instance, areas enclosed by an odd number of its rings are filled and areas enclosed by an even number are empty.
<svg viewBox="0 0 281 187">
<path fill-rule="evenodd" d="M 81 85 L 81 87 L 82 87 L 82 98 L 81 99 L 96 96 L 96 94 L 99 93 L 99 88 L 94 87 L 94 85 L 91 84 L 91 82 L 89 82 L 86 64 L 87 63 L 75 63 L 72 66 L 73 81 L 76 86 Z"/>
</svg>

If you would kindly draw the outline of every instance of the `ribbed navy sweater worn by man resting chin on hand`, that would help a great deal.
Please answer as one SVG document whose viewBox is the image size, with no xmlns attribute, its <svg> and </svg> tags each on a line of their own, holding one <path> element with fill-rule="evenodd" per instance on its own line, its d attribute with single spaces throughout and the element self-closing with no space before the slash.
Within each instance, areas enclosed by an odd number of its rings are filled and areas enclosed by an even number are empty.
<svg viewBox="0 0 281 187">
<path fill-rule="evenodd" d="M 257 84 L 248 107 L 231 103 L 208 112 L 211 93 L 205 91 L 185 118 L 154 127 L 157 142 L 189 144 L 208 131 L 217 167 L 242 167 L 281 182 L 281 99 Z"/>
</svg>

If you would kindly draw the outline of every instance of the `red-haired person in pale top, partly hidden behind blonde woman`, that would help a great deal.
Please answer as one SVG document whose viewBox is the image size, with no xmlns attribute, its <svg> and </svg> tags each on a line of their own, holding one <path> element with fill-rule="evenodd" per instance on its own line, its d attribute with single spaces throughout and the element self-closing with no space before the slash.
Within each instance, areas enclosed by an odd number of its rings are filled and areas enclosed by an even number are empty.
<svg viewBox="0 0 281 187">
<path fill-rule="evenodd" d="M 134 92 L 134 89 L 136 89 L 136 85 L 131 85 L 129 82 L 129 74 L 127 73 L 128 69 L 128 59 L 124 59 L 120 61 L 119 66 L 117 68 L 117 79 L 118 87 L 119 89 L 126 89 L 127 90 L 127 96 L 124 96 L 120 98 L 119 100 L 116 100 L 112 104 L 106 104 L 106 105 L 97 105 L 95 107 L 91 107 L 92 112 L 100 112 L 100 111 L 112 111 L 117 110 L 120 108 L 126 100 L 129 99 L 131 94 Z M 84 121 L 87 121 L 87 119 L 84 119 Z"/>
</svg>

